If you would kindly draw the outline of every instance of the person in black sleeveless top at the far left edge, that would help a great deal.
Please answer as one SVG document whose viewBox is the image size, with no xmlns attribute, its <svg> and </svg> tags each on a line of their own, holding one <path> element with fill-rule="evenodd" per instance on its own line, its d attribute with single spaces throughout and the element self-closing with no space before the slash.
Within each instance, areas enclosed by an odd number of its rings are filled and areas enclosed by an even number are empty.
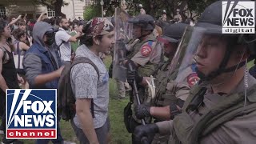
<svg viewBox="0 0 256 144">
<path fill-rule="evenodd" d="M 0 114 L 4 132 L 2 143 L 6 144 L 22 143 L 14 139 L 6 139 L 6 89 L 19 89 L 18 82 L 23 82 L 15 69 L 12 46 L 7 42 L 7 38 L 10 36 L 10 26 L 0 20 Z"/>
</svg>

